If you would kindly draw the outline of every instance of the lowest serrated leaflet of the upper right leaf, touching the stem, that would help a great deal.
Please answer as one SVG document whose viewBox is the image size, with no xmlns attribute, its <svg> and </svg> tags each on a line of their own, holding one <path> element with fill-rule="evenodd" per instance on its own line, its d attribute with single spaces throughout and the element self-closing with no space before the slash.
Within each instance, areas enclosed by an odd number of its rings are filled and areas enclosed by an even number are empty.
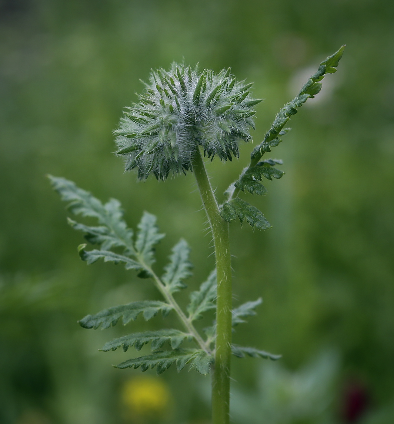
<svg viewBox="0 0 394 424">
<path fill-rule="evenodd" d="M 224 203 L 220 215 L 226 222 L 231 222 L 238 217 L 241 226 L 243 221 L 246 220 L 252 228 L 256 227 L 260 230 L 266 230 L 271 227 L 271 224 L 264 218 L 264 215 L 257 207 L 238 197 Z"/>
</svg>

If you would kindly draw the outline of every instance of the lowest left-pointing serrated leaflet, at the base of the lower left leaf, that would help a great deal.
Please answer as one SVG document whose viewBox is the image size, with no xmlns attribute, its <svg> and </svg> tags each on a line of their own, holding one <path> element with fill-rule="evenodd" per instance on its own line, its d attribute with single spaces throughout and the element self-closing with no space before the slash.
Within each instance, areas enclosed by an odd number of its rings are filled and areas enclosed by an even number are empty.
<svg viewBox="0 0 394 424">
<path fill-rule="evenodd" d="M 146 371 L 148 368 L 156 367 L 157 374 L 162 374 L 173 363 L 176 369 L 181 371 L 187 364 L 196 369 L 200 374 L 206 375 L 210 372 L 213 357 L 203 350 L 197 349 L 175 349 L 172 351 L 158 351 L 150 355 L 129 359 L 115 365 L 115 368 L 139 368 Z"/>
</svg>

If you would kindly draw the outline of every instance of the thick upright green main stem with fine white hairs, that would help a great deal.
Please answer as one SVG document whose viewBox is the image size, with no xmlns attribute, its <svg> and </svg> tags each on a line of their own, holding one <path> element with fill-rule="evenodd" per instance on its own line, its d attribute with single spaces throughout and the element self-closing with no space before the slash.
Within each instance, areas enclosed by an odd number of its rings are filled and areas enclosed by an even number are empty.
<svg viewBox="0 0 394 424">
<path fill-rule="evenodd" d="M 212 376 L 212 424 L 229 423 L 230 362 L 232 332 L 232 289 L 229 225 L 220 216 L 218 202 L 213 193 L 199 150 L 193 161 L 201 200 L 207 212 L 215 244 L 218 297 L 216 301 L 215 367 Z"/>
</svg>

